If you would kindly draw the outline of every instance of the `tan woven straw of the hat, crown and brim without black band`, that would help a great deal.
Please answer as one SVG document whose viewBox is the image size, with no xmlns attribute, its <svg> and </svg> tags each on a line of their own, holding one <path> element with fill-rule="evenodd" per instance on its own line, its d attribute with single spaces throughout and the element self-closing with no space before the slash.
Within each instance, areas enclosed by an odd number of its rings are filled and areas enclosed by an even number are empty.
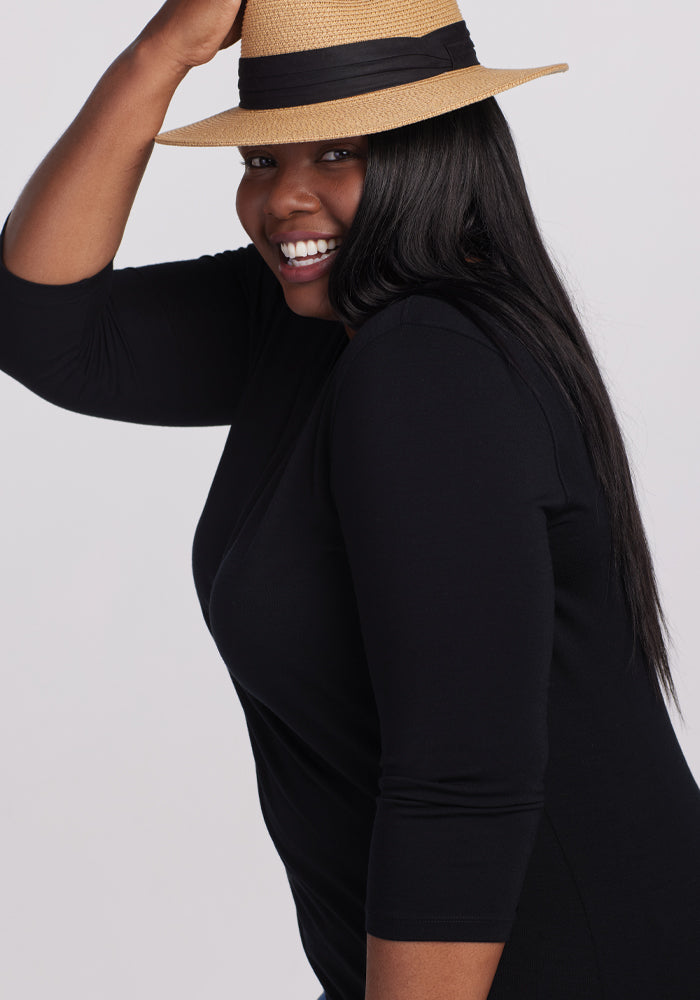
<svg viewBox="0 0 700 1000">
<path fill-rule="evenodd" d="M 241 56 L 282 55 L 374 38 L 420 37 L 462 21 L 456 0 L 247 0 Z M 534 69 L 469 66 L 369 94 L 318 104 L 252 111 L 229 108 L 156 136 L 165 146 L 252 146 L 311 142 L 399 128 L 473 104 L 550 73 L 566 63 Z"/>
</svg>

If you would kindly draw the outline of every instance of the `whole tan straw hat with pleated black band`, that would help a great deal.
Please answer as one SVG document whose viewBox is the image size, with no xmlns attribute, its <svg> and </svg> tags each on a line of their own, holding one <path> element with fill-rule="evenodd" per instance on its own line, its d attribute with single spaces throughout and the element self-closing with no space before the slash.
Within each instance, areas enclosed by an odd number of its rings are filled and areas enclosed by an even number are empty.
<svg viewBox="0 0 700 1000">
<path fill-rule="evenodd" d="M 491 97 L 566 63 L 482 66 L 456 0 L 243 0 L 238 107 L 161 132 L 171 146 L 367 135 Z"/>
</svg>

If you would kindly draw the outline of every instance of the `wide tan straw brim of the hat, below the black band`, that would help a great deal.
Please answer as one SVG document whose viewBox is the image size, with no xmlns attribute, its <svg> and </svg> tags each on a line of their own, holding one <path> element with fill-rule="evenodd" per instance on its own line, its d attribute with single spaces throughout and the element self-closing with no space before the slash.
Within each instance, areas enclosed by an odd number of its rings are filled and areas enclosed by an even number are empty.
<svg viewBox="0 0 700 1000">
<path fill-rule="evenodd" d="M 567 63 L 534 69 L 477 65 L 319 104 L 265 111 L 229 108 L 191 125 L 161 132 L 155 141 L 164 146 L 251 146 L 368 135 L 454 111 L 540 76 L 564 73 L 568 68 Z"/>
</svg>

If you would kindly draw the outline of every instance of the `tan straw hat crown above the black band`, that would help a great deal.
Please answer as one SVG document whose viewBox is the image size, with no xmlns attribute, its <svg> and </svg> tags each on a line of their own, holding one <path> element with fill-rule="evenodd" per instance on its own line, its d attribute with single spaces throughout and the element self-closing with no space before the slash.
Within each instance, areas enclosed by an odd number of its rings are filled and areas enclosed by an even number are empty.
<svg viewBox="0 0 700 1000">
<path fill-rule="evenodd" d="M 417 38 L 461 20 L 456 0 L 247 0 L 241 57 Z"/>
</svg>

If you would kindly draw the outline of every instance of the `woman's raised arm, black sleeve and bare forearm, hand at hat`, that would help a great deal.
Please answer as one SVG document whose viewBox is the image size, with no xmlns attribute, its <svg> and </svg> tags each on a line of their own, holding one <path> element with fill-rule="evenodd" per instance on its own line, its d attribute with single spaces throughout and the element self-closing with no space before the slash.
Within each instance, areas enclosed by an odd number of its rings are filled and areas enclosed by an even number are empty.
<svg viewBox="0 0 700 1000">
<path fill-rule="evenodd" d="M 240 37 L 239 6 L 168 0 L 6 222 L 0 369 L 49 402 L 136 423 L 231 422 L 270 298 L 257 251 L 117 271 L 112 259 L 175 88 Z"/>
</svg>

